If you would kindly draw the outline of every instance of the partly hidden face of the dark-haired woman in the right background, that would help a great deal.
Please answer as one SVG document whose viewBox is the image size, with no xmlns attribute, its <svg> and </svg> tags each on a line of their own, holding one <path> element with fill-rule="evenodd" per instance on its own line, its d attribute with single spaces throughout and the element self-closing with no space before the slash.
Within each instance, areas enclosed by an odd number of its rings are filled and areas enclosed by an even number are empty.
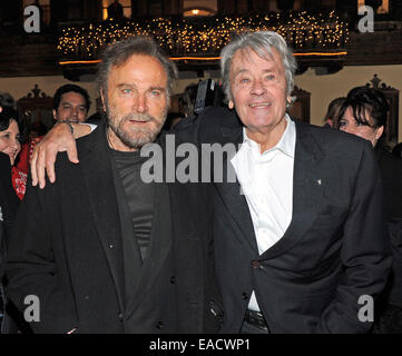
<svg viewBox="0 0 402 356">
<path fill-rule="evenodd" d="M 384 127 L 381 126 L 379 128 L 373 128 L 369 126 L 374 123 L 373 119 L 369 115 L 369 111 L 365 112 L 365 117 L 367 118 L 367 125 L 360 123 L 353 117 L 352 107 L 346 108 L 345 113 L 340 119 L 340 130 L 364 138 L 371 141 L 373 147 L 375 147 L 379 138 L 384 130 Z"/>
</svg>

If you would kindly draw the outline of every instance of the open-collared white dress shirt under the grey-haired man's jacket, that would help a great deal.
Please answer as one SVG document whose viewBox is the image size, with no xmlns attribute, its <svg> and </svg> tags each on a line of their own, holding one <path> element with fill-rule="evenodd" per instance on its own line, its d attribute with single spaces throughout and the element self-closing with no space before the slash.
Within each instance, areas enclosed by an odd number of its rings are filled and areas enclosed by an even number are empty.
<svg viewBox="0 0 402 356">
<path fill-rule="evenodd" d="M 285 119 L 281 140 L 263 154 L 243 128 L 243 145 L 231 160 L 248 205 L 259 254 L 283 237 L 292 219 L 296 129 L 287 115 Z M 254 291 L 248 308 L 259 310 Z"/>
</svg>

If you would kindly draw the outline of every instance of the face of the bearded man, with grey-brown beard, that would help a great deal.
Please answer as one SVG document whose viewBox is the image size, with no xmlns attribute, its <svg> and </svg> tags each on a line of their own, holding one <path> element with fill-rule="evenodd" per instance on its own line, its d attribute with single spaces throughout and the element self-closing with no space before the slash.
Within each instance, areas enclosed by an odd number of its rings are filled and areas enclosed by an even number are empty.
<svg viewBox="0 0 402 356">
<path fill-rule="evenodd" d="M 107 98 L 111 148 L 137 150 L 155 141 L 164 126 L 167 109 L 167 75 L 161 63 L 150 56 L 134 55 L 108 76 Z"/>
</svg>

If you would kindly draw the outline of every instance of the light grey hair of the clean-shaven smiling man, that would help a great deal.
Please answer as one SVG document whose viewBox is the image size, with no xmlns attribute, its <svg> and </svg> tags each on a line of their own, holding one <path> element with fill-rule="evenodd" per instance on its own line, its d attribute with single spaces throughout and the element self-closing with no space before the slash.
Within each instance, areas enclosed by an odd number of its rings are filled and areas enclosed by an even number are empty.
<svg viewBox="0 0 402 356">
<path fill-rule="evenodd" d="M 237 50 L 252 49 L 262 58 L 267 53 L 272 55 L 272 48 L 275 48 L 281 55 L 286 78 L 286 95 L 291 96 L 294 87 L 294 76 L 297 63 L 293 57 L 292 49 L 286 44 L 284 38 L 272 31 L 245 32 L 236 36 L 220 51 L 220 75 L 223 78 L 223 89 L 227 100 L 232 100 L 231 92 L 231 66 L 232 59 Z"/>
</svg>

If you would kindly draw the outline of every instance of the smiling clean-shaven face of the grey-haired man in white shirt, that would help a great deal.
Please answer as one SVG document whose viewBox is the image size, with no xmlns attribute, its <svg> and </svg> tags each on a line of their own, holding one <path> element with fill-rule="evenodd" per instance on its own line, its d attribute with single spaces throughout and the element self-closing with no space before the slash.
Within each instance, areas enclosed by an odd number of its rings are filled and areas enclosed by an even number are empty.
<svg viewBox="0 0 402 356">
<path fill-rule="evenodd" d="M 285 69 L 274 48 L 272 56 L 267 53 L 266 58 L 252 49 L 237 50 L 229 78 L 232 103 L 247 135 L 264 135 L 285 123 L 286 100 L 290 98 L 286 97 Z"/>
</svg>

